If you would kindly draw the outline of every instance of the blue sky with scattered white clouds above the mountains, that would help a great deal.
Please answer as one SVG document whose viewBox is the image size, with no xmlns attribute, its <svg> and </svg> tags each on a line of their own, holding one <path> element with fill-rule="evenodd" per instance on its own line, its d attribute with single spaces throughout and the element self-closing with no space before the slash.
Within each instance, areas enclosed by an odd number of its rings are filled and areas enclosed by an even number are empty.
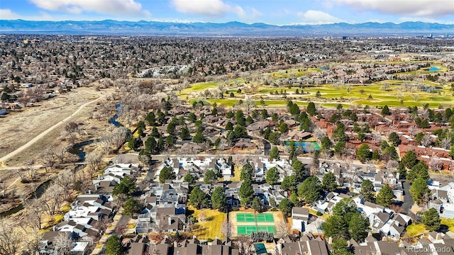
<svg viewBox="0 0 454 255">
<path fill-rule="evenodd" d="M 0 20 L 15 19 L 454 24 L 454 0 L 0 0 Z"/>
</svg>

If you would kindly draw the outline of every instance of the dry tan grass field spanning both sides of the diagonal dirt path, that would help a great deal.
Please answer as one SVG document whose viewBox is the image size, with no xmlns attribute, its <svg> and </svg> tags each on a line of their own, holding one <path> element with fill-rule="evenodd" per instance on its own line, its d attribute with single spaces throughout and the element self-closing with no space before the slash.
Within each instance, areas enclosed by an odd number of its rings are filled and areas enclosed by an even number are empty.
<svg viewBox="0 0 454 255">
<path fill-rule="evenodd" d="M 101 93 L 106 94 L 108 91 L 99 92 L 90 88 L 81 88 L 40 102 L 40 106 L 24 108 L 21 112 L 11 113 L 6 118 L 2 118 L 0 133 L 3 135 L 0 140 L 0 157 L 13 152 L 32 140 L 33 137 L 72 115 L 84 103 L 99 98 Z M 98 137 L 101 130 L 109 127 L 109 123 L 89 118 L 89 113 L 93 112 L 100 102 L 87 105 L 71 118 L 70 121 L 82 123 L 81 128 L 84 131 L 78 140 L 87 141 L 92 137 Z M 60 133 L 64 128 L 65 125 L 58 126 L 21 153 L 6 160 L 4 164 L 6 166 L 22 166 L 27 162 L 35 161 L 39 154 L 37 152 L 43 152 L 48 147 L 62 146 Z"/>
</svg>

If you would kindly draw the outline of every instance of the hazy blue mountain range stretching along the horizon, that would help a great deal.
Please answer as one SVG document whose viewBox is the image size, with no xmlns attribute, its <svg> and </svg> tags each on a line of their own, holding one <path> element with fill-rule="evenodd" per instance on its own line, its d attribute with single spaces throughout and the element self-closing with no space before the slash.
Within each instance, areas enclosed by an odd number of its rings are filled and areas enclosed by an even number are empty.
<svg viewBox="0 0 454 255">
<path fill-rule="evenodd" d="M 182 35 L 182 36 L 417 36 L 453 35 L 454 25 L 440 23 L 334 23 L 269 25 L 265 23 L 176 23 L 160 21 L 0 21 L 0 33 L 72 35 Z"/>
</svg>

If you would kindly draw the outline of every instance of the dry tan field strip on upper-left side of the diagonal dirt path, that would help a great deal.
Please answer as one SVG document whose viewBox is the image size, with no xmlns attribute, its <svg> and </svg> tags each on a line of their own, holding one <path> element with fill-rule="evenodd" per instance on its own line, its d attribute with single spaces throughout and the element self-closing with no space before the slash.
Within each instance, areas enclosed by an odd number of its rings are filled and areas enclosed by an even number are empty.
<svg viewBox="0 0 454 255">
<path fill-rule="evenodd" d="M 43 101 L 33 108 L 24 108 L 2 118 L 0 133 L 0 157 L 25 145 L 33 137 L 70 116 L 84 103 L 98 98 L 99 95 L 79 89 Z"/>
</svg>

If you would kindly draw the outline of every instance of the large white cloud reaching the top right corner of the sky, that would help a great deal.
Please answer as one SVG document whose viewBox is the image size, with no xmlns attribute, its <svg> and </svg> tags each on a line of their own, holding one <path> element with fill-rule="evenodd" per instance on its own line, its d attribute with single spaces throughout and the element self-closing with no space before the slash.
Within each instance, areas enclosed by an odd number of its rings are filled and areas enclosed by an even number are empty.
<svg viewBox="0 0 454 255">
<path fill-rule="evenodd" d="M 330 1 L 330 0 L 328 0 Z M 331 0 L 359 11 L 371 10 L 380 13 L 443 17 L 454 15 L 453 0 Z"/>
</svg>

